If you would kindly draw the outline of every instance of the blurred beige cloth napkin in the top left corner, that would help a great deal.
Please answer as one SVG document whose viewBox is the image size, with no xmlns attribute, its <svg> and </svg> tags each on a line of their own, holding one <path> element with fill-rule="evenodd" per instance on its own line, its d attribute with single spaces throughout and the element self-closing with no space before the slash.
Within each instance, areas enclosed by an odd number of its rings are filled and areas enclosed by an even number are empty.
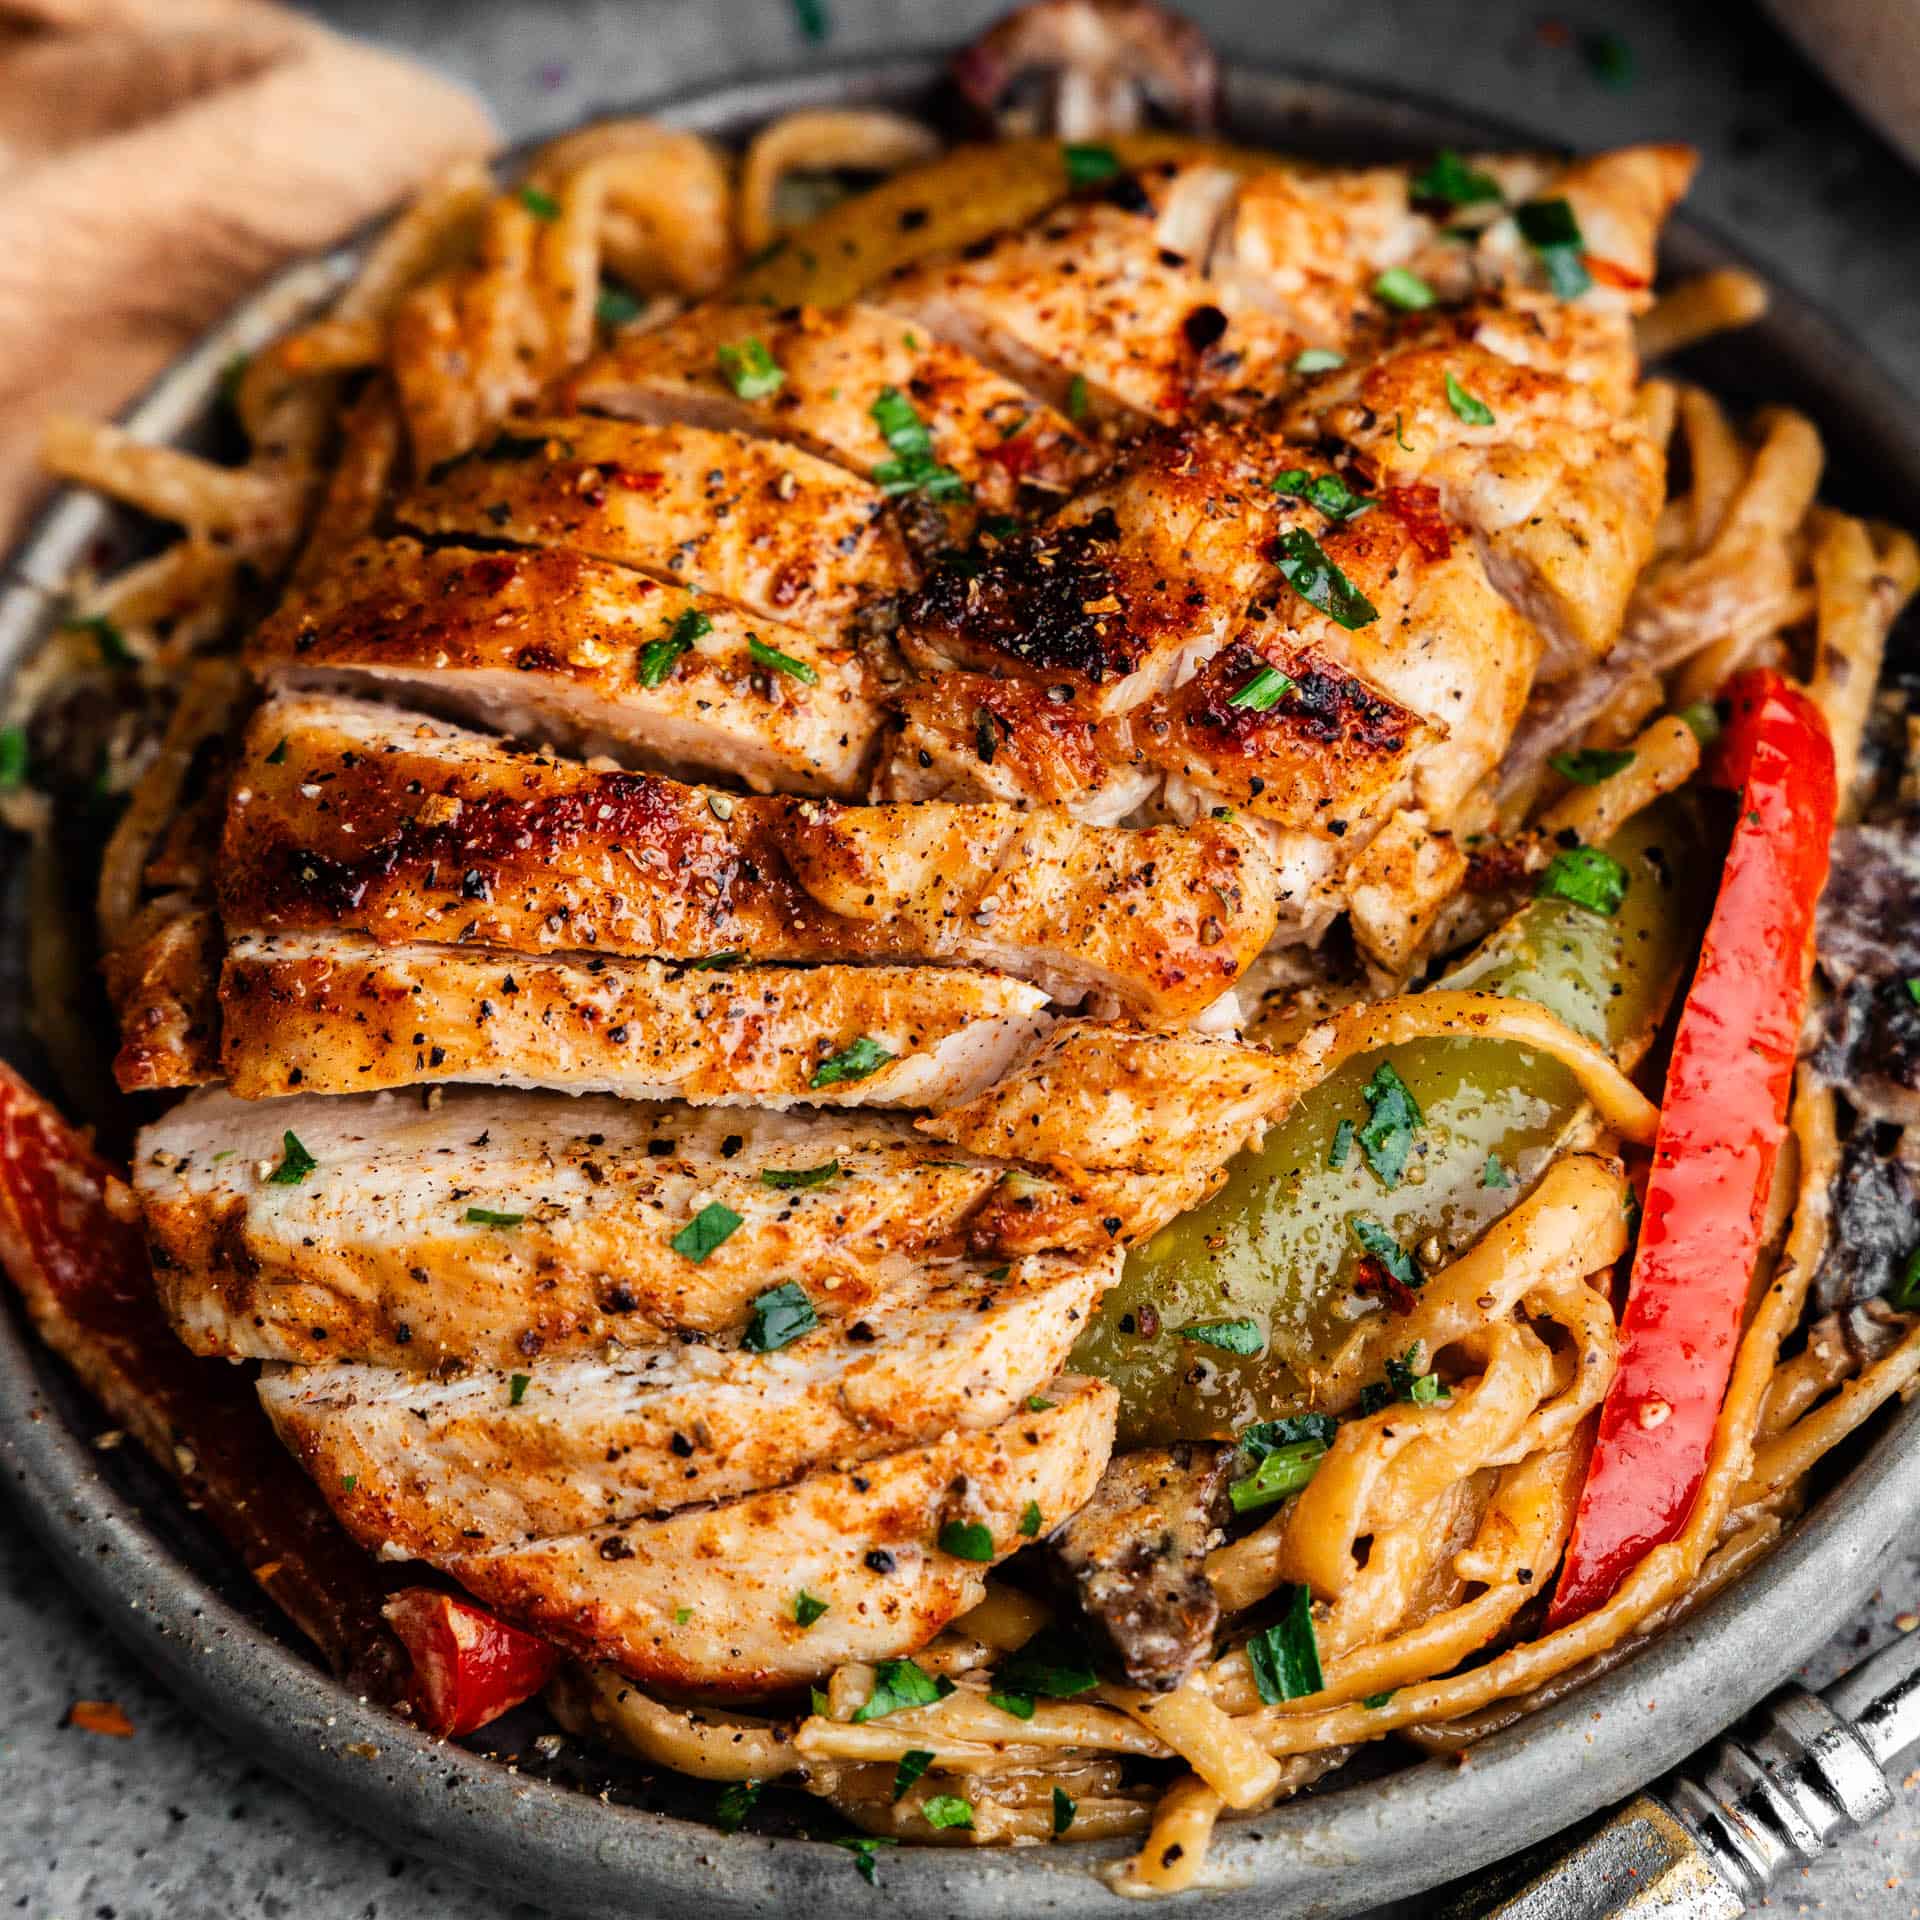
<svg viewBox="0 0 1920 1920">
<path fill-rule="evenodd" d="M 0 0 L 0 541 L 48 413 L 115 411 L 275 267 L 493 144 L 449 81 L 267 0 Z"/>
</svg>

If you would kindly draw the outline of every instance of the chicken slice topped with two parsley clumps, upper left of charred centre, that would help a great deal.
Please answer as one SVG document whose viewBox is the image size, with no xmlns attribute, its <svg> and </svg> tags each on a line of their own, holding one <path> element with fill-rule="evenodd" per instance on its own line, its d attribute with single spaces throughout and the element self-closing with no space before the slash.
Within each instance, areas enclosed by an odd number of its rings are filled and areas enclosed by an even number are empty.
<svg viewBox="0 0 1920 1920">
<path fill-rule="evenodd" d="M 739 351 L 764 353 L 778 384 L 766 371 L 758 382 L 747 369 L 730 376 L 722 355 Z M 622 334 L 568 380 L 566 397 L 568 407 L 626 420 L 774 434 L 891 495 L 916 490 L 889 440 L 904 403 L 925 428 L 925 459 L 956 474 L 987 513 L 1010 513 L 1023 488 L 1066 493 L 1094 459 L 1023 388 L 879 307 L 770 313 L 710 301 L 666 326 Z"/>
</svg>

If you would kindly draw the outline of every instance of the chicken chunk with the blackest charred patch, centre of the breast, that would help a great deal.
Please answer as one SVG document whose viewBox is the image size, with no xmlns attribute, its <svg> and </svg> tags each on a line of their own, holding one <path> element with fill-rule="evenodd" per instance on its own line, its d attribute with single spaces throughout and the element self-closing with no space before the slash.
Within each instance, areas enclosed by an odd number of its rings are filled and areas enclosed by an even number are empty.
<svg viewBox="0 0 1920 1920">
<path fill-rule="evenodd" d="M 900 645 L 927 668 L 1062 684 L 1096 714 L 1139 707 L 1215 653 L 1273 578 L 1284 465 L 1269 436 L 1225 422 L 1148 434 L 1046 524 L 937 568 L 900 609 Z"/>
</svg>

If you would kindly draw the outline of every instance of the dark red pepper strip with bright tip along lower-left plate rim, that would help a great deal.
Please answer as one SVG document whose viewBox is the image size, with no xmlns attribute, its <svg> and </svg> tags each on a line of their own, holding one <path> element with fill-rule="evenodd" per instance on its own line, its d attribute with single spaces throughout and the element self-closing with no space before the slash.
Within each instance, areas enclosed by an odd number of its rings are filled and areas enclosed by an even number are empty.
<svg viewBox="0 0 1920 1920">
<path fill-rule="evenodd" d="M 426 1588 L 388 1599 L 397 1572 L 332 1517 L 275 1436 L 252 1377 L 175 1338 L 127 1185 L 6 1066 L 0 1267 L 108 1419 L 154 1455 L 357 1692 L 407 1699 L 436 1732 L 465 1734 L 545 1684 L 561 1655 L 532 1634 Z M 382 1607 L 401 1603 L 401 1619 L 382 1619 Z M 405 1622 L 432 1622 L 436 1609 L 457 1613 L 459 1626 L 445 1636 L 451 1651 L 424 1628 L 422 1657 Z M 459 1713 L 449 1716 L 445 1701 Z"/>
</svg>

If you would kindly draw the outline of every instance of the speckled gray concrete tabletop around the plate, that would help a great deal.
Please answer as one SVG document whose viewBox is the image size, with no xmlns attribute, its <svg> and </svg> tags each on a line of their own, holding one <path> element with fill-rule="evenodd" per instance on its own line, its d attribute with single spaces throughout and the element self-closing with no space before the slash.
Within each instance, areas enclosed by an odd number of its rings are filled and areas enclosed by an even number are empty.
<svg viewBox="0 0 1920 1920">
<path fill-rule="evenodd" d="M 509 138 L 660 86 L 781 69 L 885 40 L 952 44 L 1000 8 L 979 0 L 828 0 L 824 50 L 787 0 L 319 0 L 334 25 L 413 52 L 484 94 Z M 1334 79 L 1425 92 L 1597 146 L 1686 138 L 1707 165 L 1693 205 L 1820 300 L 1920 390 L 1920 180 L 1759 12 L 1609 0 L 1188 0 L 1223 48 Z M 1596 35 L 1632 61 L 1599 71 Z M 1920 1557 L 1897 1565 L 1809 1672 L 1824 1684 L 1920 1609 Z M 540 1920 L 513 1887 L 478 1887 L 332 1820 L 202 1726 L 106 1638 L 0 1509 L 0 1912 L 31 1920 Z M 132 1740 L 63 1728 L 113 1699 Z M 1920 1776 L 1914 1778 L 1920 1789 Z M 1912 1880 L 1912 1887 L 1907 1880 Z M 1789 1880 L 1780 1912 L 1920 1920 L 1920 1797 Z M 643 1916 L 636 1916 L 643 1920 Z M 1275 1916 L 1283 1920 L 1283 1916 Z"/>
</svg>

